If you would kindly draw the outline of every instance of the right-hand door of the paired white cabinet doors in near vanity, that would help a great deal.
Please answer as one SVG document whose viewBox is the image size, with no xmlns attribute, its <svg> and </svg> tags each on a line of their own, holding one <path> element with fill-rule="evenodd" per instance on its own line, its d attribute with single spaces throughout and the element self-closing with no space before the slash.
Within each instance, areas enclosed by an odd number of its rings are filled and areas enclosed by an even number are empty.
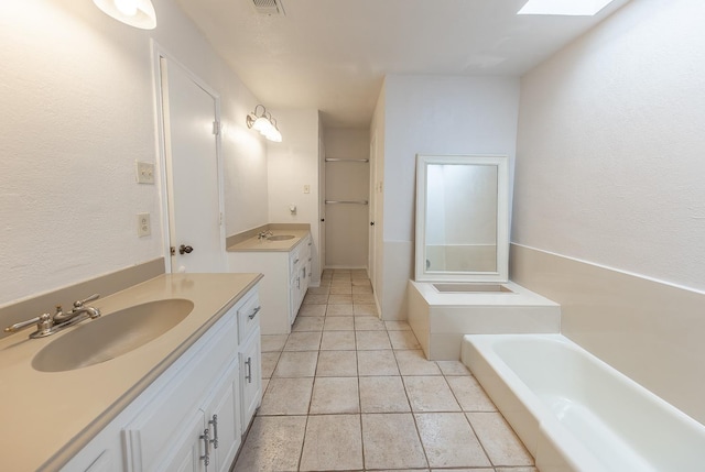
<svg viewBox="0 0 705 472">
<path fill-rule="evenodd" d="M 203 408 L 210 437 L 209 472 L 229 471 L 242 440 L 238 367 L 234 360 Z"/>
</svg>

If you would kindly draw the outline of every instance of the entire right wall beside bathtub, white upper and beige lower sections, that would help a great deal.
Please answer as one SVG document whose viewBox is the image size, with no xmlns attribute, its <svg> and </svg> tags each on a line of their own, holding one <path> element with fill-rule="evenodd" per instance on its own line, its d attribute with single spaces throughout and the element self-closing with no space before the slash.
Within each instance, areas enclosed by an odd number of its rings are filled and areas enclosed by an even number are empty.
<svg viewBox="0 0 705 472">
<path fill-rule="evenodd" d="M 632 1 L 522 78 L 510 271 L 705 424 L 704 18 Z"/>
</svg>

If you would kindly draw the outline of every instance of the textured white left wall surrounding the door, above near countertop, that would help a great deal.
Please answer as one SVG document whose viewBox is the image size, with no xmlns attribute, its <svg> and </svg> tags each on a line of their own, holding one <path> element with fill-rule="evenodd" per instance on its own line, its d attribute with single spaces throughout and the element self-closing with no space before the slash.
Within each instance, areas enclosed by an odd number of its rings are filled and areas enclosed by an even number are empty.
<svg viewBox="0 0 705 472">
<path fill-rule="evenodd" d="M 159 186 L 134 183 L 135 160 L 156 162 L 151 37 L 221 96 L 228 233 L 267 222 L 257 99 L 171 0 L 154 7 L 147 32 L 90 1 L 0 2 L 0 305 L 163 256 Z"/>
</svg>

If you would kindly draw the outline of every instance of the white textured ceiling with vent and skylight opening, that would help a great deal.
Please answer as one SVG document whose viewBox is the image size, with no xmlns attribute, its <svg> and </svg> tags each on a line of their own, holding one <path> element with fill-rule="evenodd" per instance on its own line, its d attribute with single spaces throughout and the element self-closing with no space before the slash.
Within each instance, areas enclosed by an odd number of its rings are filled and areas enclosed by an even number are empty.
<svg viewBox="0 0 705 472">
<path fill-rule="evenodd" d="M 572 1 L 572 0 L 566 0 Z M 629 0 L 592 18 L 528 17 L 525 0 L 177 0 L 269 108 L 367 128 L 387 74 L 521 76 Z"/>
</svg>

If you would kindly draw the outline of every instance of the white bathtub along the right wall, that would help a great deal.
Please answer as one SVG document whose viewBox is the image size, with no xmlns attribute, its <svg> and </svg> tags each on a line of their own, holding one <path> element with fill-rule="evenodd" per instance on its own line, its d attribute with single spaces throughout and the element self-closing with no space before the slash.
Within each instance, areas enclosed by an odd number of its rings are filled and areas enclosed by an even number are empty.
<svg viewBox="0 0 705 472">
<path fill-rule="evenodd" d="M 468 334 L 462 359 L 541 472 L 705 470 L 705 426 L 561 334 Z"/>
</svg>

